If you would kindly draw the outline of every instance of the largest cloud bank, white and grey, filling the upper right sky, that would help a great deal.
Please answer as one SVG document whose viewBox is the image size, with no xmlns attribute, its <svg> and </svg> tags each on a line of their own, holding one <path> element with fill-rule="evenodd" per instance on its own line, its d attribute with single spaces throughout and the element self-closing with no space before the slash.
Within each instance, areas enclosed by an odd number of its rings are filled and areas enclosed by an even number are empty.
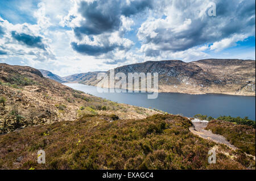
<svg viewBox="0 0 256 181">
<path fill-rule="evenodd" d="M 255 9 L 251 10 L 255 2 L 214 2 L 217 4 L 216 17 L 205 12 L 210 1 L 160 1 L 160 12 L 149 16 L 138 30 L 141 52 L 146 56 L 155 57 L 155 53 L 163 56 L 171 53 L 172 56 L 175 52 L 179 54 L 210 43 L 213 43 L 210 50 L 222 50 L 255 36 Z M 159 14 L 166 17 L 163 19 Z"/>
</svg>

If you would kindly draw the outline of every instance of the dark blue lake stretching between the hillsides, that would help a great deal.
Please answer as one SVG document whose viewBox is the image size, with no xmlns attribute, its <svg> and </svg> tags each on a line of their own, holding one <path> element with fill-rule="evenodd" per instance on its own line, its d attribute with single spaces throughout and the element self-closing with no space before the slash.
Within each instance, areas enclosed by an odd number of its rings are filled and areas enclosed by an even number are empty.
<svg viewBox="0 0 256 181">
<path fill-rule="evenodd" d="M 106 98 L 118 103 L 151 107 L 173 114 L 192 117 L 197 113 L 217 118 L 218 116 L 245 117 L 255 120 L 255 96 L 234 96 L 223 94 L 190 95 L 159 93 L 157 99 L 147 99 L 149 93 L 100 93 L 97 87 L 79 83 L 64 83 L 73 89 Z"/>
</svg>

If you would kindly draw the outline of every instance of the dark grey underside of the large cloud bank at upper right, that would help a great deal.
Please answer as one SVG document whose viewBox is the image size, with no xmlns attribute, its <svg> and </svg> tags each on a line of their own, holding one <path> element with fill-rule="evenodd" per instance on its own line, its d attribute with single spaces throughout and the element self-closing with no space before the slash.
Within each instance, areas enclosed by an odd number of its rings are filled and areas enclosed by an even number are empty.
<svg viewBox="0 0 256 181">
<path fill-rule="evenodd" d="M 236 34 L 248 34 L 255 36 L 255 0 L 250 1 L 213 1 L 216 3 L 217 16 L 205 16 L 203 18 L 192 15 L 196 10 L 195 5 L 189 1 L 174 1 L 173 5 L 179 12 L 183 12 L 183 19 L 190 19 L 191 25 L 179 31 L 173 30 L 177 25 L 163 26 L 155 22 L 156 28 L 148 30 L 142 28 L 138 32 L 143 44 L 153 44 L 161 52 L 170 50 L 172 52 L 187 50 L 202 44 L 210 44 Z M 187 7 L 187 5 L 191 7 Z M 164 3 L 163 3 L 164 6 Z M 205 8 L 207 9 L 207 7 Z M 152 27 L 152 26 L 148 26 Z M 170 30 L 171 28 L 171 30 Z M 157 35 L 150 36 L 147 32 L 154 31 Z M 145 32 L 145 33 L 144 33 Z M 254 32 L 254 35 L 253 35 Z M 154 57 L 151 49 L 145 49 L 146 56 Z"/>
</svg>

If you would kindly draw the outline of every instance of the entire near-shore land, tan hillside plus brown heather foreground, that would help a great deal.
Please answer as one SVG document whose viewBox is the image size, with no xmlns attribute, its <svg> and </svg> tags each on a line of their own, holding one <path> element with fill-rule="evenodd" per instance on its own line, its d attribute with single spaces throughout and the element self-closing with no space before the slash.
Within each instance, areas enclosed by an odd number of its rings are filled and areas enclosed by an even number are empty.
<svg viewBox="0 0 256 181">
<path fill-rule="evenodd" d="M 251 120 L 205 128 L 234 150 L 193 133 L 193 118 L 85 94 L 28 66 L 0 68 L 0 169 L 255 169 L 255 124 L 240 125 Z"/>
</svg>

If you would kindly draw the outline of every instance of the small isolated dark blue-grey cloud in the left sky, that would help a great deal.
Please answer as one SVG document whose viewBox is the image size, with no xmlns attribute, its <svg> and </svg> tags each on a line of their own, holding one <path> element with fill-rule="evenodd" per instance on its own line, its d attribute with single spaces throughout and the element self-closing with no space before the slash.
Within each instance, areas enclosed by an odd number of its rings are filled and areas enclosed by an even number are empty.
<svg viewBox="0 0 256 181">
<path fill-rule="evenodd" d="M 43 43 L 42 41 L 43 38 L 41 36 L 32 36 L 32 35 L 27 35 L 26 33 L 17 33 L 16 31 L 12 31 L 11 36 L 15 40 L 22 42 L 28 47 L 36 47 L 36 48 L 46 50 L 46 45 Z"/>
</svg>

